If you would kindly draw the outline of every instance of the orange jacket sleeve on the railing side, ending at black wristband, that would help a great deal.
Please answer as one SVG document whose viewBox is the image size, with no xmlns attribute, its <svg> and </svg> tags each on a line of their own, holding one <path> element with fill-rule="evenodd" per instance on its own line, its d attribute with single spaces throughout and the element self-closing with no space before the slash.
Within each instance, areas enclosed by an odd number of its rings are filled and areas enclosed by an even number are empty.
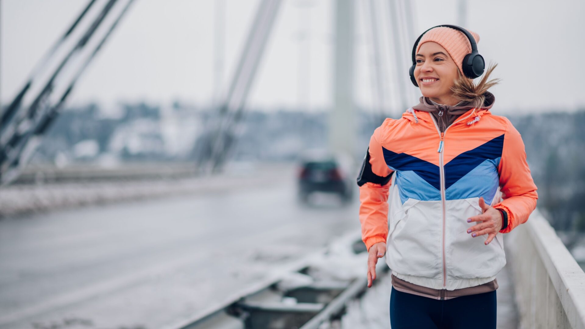
<svg viewBox="0 0 585 329">
<path fill-rule="evenodd" d="M 494 208 L 506 211 L 508 227 L 500 232 L 508 233 L 518 225 L 526 222 L 528 216 L 536 208 L 536 185 L 532 180 L 530 168 L 526 163 L 524 142 L 510 120 L 504 135 L 504 147 L 498 172 L 500 174 L 500 190 L 503 201 Z"/>
</svg>

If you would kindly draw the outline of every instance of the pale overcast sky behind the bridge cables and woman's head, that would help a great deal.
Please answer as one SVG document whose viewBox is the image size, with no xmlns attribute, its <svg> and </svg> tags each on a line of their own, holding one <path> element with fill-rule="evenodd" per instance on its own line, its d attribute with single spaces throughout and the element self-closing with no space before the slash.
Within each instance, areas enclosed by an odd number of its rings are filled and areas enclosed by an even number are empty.
<svg viewBox="0 0 585 329">
<path fill-rule="evenodd" d="M 22 88 L 43 54 L 85 7 L 85 0 L 0 0 L 0 100 L 8 102 Z M 228 85 L 257 0 L 225 0 L 225 68 Z M 387 1 L 378 10 L 387 5 Z M 355 2 L 355 98 L 374 101 L 372 38 L 366 19 L 369 1 Z M 503 81 L 491 89 L 494 114 L 567 110 L 585 107 L 580 72 L 585 51 L 585 1 L 467 1 L 464 22 L 458 0 L 412 1 L 415 36 L 443 23 L 464 24 L 479 33 L 480 54 L 498 67 Z M 249 105 L 267 109 L 308 105 L 331 107 L 332 0 L 284 0 L 263 61 L 250 92 Z M 386 12 L 387 13 L 387 12 Z M 209 0 L 136 0 L 119 28 L 77 84 L 70 104 L 146 100 L 168 104 L 181 100 L 208 104 L 214 95 L 214 2 Z M 408 63 L 397 72 L 390 52 L 391 32 L 380 26 L 386 107 L 399 104 L 396 83 L 408 90 L 408 105 L 418 89 L 408 78 Z M 299 32 L 307 38 L 299 41 Z M 407 61 L 413 40 L 404 47 Z M 300 53 L 301 52 L 301 53 Z M 300 55 L 301 54 L 301 55 Z M 310 54 L 310 60 L 307 54 Z M 400 112 L 403 112 L 400 111 Z"/>
</svg>

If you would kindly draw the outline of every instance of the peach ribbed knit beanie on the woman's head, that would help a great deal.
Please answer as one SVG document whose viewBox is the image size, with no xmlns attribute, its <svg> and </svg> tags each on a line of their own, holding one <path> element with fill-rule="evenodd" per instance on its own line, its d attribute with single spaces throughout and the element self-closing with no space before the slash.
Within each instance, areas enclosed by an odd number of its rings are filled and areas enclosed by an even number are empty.
<svg viewBox="0 0 585 329">
<path fill-rule="evenodd" d="M 470 30 L 468 31 L 473 36 L 473 39 L 476 40 L 476 43 L 479 43 L 479 35 Z M 466 54 L 472 53 L 472 45 L 469 43 L 469 40 L 463 32 L 446 26 L 430 29 L 418 42 L 417 53 L 421 48 L 421 44 L 429 41 L 441 44 L 441 46 L 447 50 L 449 56 L 455 61 L 461 74 L 463 74 L 463 68 L 461 65 L 463 63 L 463 58 Z"/>
</svg>

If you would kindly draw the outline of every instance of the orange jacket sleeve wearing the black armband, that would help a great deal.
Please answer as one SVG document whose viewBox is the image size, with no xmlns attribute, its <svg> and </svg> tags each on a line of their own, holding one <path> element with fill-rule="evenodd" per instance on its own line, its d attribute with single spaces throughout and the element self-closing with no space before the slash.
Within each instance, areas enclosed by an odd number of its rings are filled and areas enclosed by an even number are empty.
<svg viewBox="0 0 585 329">
<path fill-rule="evenodd" d="M 379 136 L 380 129 L 381 127 L 376 128 L 370 138 L 369 149 L 364 158 L 362 173 L 360 173 L 360 177 L 362 177 L 366 176 L 362 175 L 364 170 L 369 171 L 370 176 L 372 173 L 375 175 L 373 177 L 376 179 L 372 180 L 387 180 L 387 183 L 372 183 L 364 178 L 362 183 L 363 181 L 366 182 L 359 188 L 359 217 L 362 224 L 362 241 L 368 251 L 377 242 L 386 242 L 388 236 L 388 191 L 390 190 L 390 176 L 393 170 L 386 165 L 382 146 L 378 142 L 377 136 Z"/>
</svg>

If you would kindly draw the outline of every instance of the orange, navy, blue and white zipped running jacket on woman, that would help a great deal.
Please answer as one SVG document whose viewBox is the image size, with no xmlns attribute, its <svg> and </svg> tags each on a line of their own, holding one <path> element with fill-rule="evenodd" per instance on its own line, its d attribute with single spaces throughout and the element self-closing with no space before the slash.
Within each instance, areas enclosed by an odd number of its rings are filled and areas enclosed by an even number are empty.
<svg viewBox="0 0 585 329">
<path fill-rule="evenodd" d="M 486 108 L 469 109 L 445 132 L 425 111 L 387 118 L 370 138 L 358 185 L 367 249 L 386 242 L 392 273 L 432 289 L 494 280 L 506 263 L 502 234 L 526 222 L 538 199 L 520 133 Z M 479 197 L 508 220 L 488 245 L 487 235 L 467 233 L 478 224 L 467 218 L 483 213 Z"/>
</svg>

